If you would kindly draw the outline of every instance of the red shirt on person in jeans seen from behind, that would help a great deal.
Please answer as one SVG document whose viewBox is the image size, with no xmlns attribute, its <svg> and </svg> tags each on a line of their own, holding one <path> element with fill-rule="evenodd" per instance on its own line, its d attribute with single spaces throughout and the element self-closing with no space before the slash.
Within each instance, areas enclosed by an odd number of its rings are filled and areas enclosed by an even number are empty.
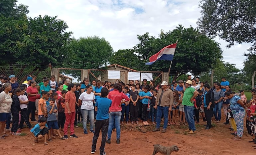
<svg viewBox="0 0 256 155">
<path fill-rule="evenodd" d="M 108 98 L 112 100 L 111 107 L 109 108 L 110 112 L 122 111 L 122 107 L 120 106 L 122 99 L 125 99 L 126 102 L 130 100 L 127 95 L 125 95 L 123 92 L 119 92 L 117 89 L 110 91 Z"/>
</svg>

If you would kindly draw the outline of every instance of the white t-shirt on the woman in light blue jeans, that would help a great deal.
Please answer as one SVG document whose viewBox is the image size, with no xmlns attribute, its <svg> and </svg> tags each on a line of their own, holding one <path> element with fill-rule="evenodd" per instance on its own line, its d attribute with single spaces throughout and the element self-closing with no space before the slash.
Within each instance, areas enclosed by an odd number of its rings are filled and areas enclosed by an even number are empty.
<svg viewBox="0 0 256 155">
<path fill-rule="evenodd" d="M 85 92 L 81 93 L 81 95 L 79 96 L 79 99 L 82 100 L 81 109 L 85 109 L 85 110 L 93 110 L 94 109 L 92 100 L 95 99 L 95 96 L 94 96 L 93 92 L 88 94 L 85 91 Z"/>
</svg>

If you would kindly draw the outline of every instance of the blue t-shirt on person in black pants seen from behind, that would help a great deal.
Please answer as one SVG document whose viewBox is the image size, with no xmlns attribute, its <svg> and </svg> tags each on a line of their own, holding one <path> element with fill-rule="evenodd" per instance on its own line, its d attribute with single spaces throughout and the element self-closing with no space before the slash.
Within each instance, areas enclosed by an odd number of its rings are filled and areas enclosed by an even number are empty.
<svg viewBox="0 0 256 155">
<path fill-rule="evenodd" d="M 106 120 L 109 118 L 108 111 L 112 101 L 106 97 L 101 97 L 96 100 L 95 107 L 98 108 L 96 120 Z"/>
</svg>

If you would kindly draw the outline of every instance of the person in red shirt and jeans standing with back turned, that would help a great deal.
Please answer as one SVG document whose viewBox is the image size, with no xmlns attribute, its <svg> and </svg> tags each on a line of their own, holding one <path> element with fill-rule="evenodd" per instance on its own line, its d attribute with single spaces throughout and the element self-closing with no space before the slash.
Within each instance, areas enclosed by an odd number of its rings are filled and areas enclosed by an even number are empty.
<svg viewBox="0 0 256 155">
<path fill-rule="evenodd" d="M 112 100 L 112 104 L 109 108 L 109 125 L 108 125 L 108 137 L 106 142 L 110 144 L 111 132 L 114 126 L 116 126 L 116 143 L 120 144 L 120 120 L 122 115 L 121 104 L 129 101 L 129 97 L 127 97 L 122 91 L 122 86 L 119 83 L 114 84 L 114 90 L 110 91 L 108 94 L 108 98 Z M 124 100 L 123 100 L 124 99 Z M 122 101 L 122 102 L 121 102 Z"/>
</svg>

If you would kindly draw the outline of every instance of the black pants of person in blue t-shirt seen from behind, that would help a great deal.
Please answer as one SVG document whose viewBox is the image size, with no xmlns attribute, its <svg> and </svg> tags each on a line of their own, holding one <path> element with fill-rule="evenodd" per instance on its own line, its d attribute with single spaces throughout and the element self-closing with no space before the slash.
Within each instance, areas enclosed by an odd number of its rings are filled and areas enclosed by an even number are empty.
<svg viewBox="0 0 256 155">
<path fill-rule="evenodd" d="M 99 150 L 101 152 L 104 151 L 105 144 L 106 144 L 106 137 L 107 137 L 107 133 L 108 133 L 108 124 L 109 124 L 109 119 L 96 120 L 91 150 L 96 150 L 96 144 L 97 144 L 97 140 L 99 137 L 99 132 L 101 130 L 101 146 L 100 146 Z"/>
</svg>

